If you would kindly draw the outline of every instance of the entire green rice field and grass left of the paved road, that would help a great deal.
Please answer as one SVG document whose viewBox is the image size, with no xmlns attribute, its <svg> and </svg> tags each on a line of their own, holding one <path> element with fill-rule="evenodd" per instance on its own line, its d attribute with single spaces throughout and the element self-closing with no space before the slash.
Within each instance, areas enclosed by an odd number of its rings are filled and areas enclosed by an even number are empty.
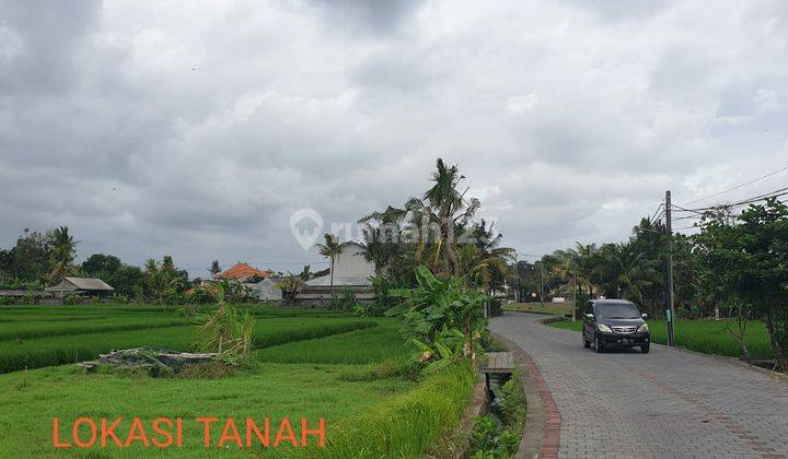
<svg viewBox="0 0 788 459">
<path fill-rule="evenodd" d="M 25 315 L 45 317 L 40 323 L 46 325 L 43 328 L 49 333 L 57 330 L 51 326 L 58 323 L 57 317 L 63 318 L 60 321 L 63 327 L 73 326 L 74 317 L 91 321 L 85 327 L 116 327 L 124 322 L 118 319 L 120 316 L 129 326 L 141 327 L 155 321 L 157 315 L 163 321 L 181 320 L 172 309 L 162 308 L 63 308 L 59 311 L 34 308 L 9 308 L 9 314 L 0 308 L 0 323 L 14 321 L 23 325 L 20 330 L 30 333 L 36 329 L 30 325 L 35 320 L 16 319 Z M 280 457 L 291 452 L 332 457 L 366 452 L 418 456 L 460 419 L 473 385 L 470 368 L 452 368 L 419 382 L 404 379 L 397 374 L 404 348 L 394 319 L 359 319 L 337 313 L 269 307 L 256 307 L 255 314 L 255 344 L 260 349 L 253 353 L 247 368 L 218 379 L 84 375 L 74 365 L 0 375 L 0 386 L 7 388 L 0 391 L 0 428 L 4 433 L 0 437 L 0 457 L 62 457 L 74 452 L 93 457 L 151 454 L 211 457 L 218 452 L 240 457 L 251 454 Z M 89 319 L 91 316 L 93 319 Z M 13 330 L 13 327 L 3 330 Z M 71 334 L 65 334 L 63 330 L 59 336 L 0 341 L 0 361 L 13 368 L 21 362 L 44 366 L 63 360 L 92 358 L 104 350 L 132 345 L 186 349 L 192 343 L 194 326 L 105 329 L 91 333 L 73 333 L 76 329 L 71 328 Z M 141 445 L 83 451 L 54 449 L 53 417 L 73 422 L 83 415 L 111 420 L 140 417 L 149 431 L 155 417 L 183 417 L 184 446 L 165 451 Z M 204 448 L 201 431 L 194 421 L 200 415 L 222 420 L 254 417 L 260 423 L 270 417 L 273 429 L 283 416 L 294 420 L 294 426 L 296 421 L 308 417 L 310 428 L 316 427 L 318 417 L 324 417 L 329 446 L 316 449 L 312 439 L 306 452 L 283 446 L 240 450 L 234 444 L 227 450 L 216 447 L 220 434 L 220 427 L 216 427 L 215 443 Z M 121 423 L 119 432 L 124 438 L 129 424 L 130 421 Z M 276 432 L 271 432 L 271 440 L 275 435 Z"/>
</svg>

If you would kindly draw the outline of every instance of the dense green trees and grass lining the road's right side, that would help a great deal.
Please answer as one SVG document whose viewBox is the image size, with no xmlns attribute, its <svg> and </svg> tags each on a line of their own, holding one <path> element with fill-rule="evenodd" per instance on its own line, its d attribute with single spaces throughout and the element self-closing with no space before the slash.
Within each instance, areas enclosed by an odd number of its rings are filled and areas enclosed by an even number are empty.
<svg viewBox="0 0 788 459">
<path fill-rule="evenodd" d="M 738 213 L 735 208 L 745 204 Z M 533 263 L 520 261 L 510 284 L 521 297 L 545 292 L 548 297 L 576 298 L 578 308 L 589 298 L 625 298 L 652 318 L 663 318 L 670 238 L 676 341 L 703 352 L 770 356 L 777 368 L 788 368 L 788 207 L 766 196 L 735 205 L 673 211 L 693 220 L 696 234 L 669 236 L 659 219 L 645 217 L 626 242 L 578 243 Z M 686 322 L 712 317 L 723 320 Z M 659 322 L 651 330 L 658 330 L 659 340 Z"/>
</svg>

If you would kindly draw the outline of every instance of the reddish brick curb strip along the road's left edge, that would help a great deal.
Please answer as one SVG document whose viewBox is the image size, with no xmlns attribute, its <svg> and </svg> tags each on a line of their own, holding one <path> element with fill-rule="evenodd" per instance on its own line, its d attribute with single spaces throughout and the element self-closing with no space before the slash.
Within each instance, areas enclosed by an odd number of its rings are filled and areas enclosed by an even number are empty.
<svg viewBox="0 0 788 459">
<path fill-rule="evenodd" d="M 560 413 L 531 355 L 514 341 L 493 336 L 514 355 L 528 401 L 525 428 L 515 458 L 556 458 L 560 442 Z"/>
</svg>

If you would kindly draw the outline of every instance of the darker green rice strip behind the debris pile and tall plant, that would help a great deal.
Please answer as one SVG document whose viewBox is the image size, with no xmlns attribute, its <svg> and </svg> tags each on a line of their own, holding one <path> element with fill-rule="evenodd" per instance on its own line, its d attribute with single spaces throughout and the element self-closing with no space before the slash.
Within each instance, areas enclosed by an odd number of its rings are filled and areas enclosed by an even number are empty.
<svg viewBox="0 0 788 459">
<path fill-rule="evenodd" d="M 257 319 L 253 342 L 255 348 L 266 348 L 374 325 L 372 320 L 351 317 Z M 0 341 L 0 373 L 92 360 L 113 349 L 146 345 L 188 351 L 195 341 L 195 326 L 179 326 Z"/>
</svg>

